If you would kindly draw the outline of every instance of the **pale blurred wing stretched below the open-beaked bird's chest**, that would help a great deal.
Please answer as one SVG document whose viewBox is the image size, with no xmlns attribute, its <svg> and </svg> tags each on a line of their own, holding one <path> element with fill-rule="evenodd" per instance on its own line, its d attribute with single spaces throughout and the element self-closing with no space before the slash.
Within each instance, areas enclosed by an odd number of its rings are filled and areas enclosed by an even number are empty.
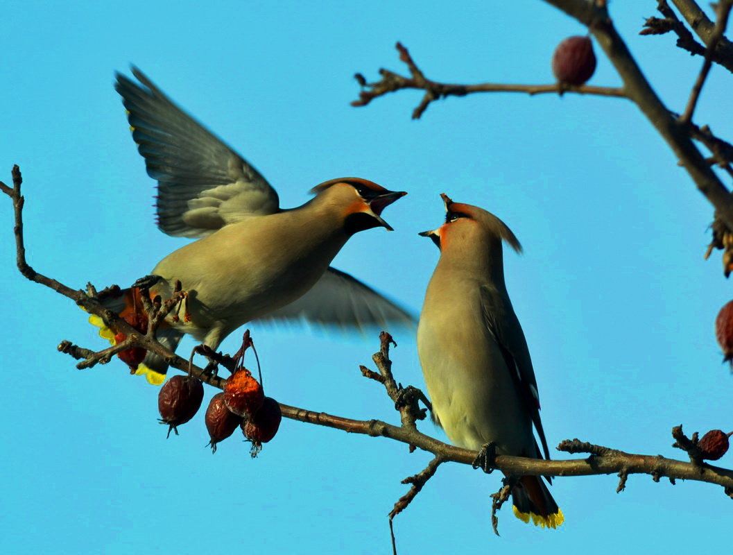
<svg viewBox="0 0 733 555">
<path fill-rule="evenodd" d="M 297 301 L 259 318 L 258 322 L 307 320 L 342 329 L 416 327 L 416 317 L 347 273 L 328 268 Z"/>
</svg>

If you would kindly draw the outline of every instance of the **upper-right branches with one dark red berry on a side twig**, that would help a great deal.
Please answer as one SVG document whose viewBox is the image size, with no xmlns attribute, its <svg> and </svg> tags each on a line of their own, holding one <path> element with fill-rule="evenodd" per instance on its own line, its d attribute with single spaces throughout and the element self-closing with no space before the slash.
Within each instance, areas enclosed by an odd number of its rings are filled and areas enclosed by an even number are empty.
<svg viewBox="0 0 733 555">
<path fill-rule="evenodd" d="M 642 34 L 662 34 L 674 31 L 682 43 L 678 41 L 678 45 L 694 51 L 695 54 L 701 54 L 705 58 L 682 115 L 668 109 L 655 93 L 625 41 L 616 32 L 605 0 L 545 1 L 588 28 L 589 34 L 603 48 L 605 55 L 614 65 L 622 79 L 622 87 L 593 87 L 586 84 L 596 65 L 590 37 L 570 37 L 558 45 L 552 60 L 553 73 L 557 81 L 555 84 L 548 85 L 439 83 L 425 77 L 408 49 L 401 43 L 397 43 L 399 59 L 408 67 L 409 75 L 402 76 L 391 70 L 380 69 L 380 80 L 369 82 L 361 73 L 357 73 L 356 80 L 361 85 L 361 92 L 358 100 L 351 103 L 352 106 L 367 106 L 375 98 L 402 89 L 424 91 L 419 105 L 413 110 L 413 119 L 419 119 L 435 100 L 449 96 L 465 96 L 476 92 L 524 92 L 528 95 L 548 92 L 562 95 L 570 92 L 627 98 L 635 103 L 647 120 L 654 125 L 677 156 L 679 165 L 685 168 L 701 194 L 715 207 L 715 218 L 721 221 L 726 229 L 733 229 L 733 197 L 728 187 L 712 169 L 712 166 L 720 166 L 721 169 L 733 175 L 731 167 L 733 155 L 729 148 L 731 145 L 712 136 L 707 125 L 698 126 L 692 121 L 695 107 L 712 64 L 718 63 L 729 69 L 733 67 L 733 43 L 730 43 L 724 36 L 733 0 L 719 2 L 718 17 L 715 23 L 704 16 L 693 0 L 673 0 L 704 45 L 699 45 L 694 40 L 693 35 L 674 15 L 664 0 L 658 0 L 658 9 L 665 15 L 665 18 L 663 20 L 649 18 L 645 24 Z M 694 141 L 699 141 L 710 150 L 710 156 L 702 155 Z M 718 247 L 718 242 L 714 241 L 714 243 Z"/>
</svg>

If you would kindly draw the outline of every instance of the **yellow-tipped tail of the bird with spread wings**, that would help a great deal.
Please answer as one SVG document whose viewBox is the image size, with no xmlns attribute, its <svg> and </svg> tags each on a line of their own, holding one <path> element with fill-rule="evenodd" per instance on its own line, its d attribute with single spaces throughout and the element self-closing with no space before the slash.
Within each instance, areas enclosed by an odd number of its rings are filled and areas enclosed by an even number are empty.
<svg viewBox="0 0 733 555">
<path fill-rule="evenodd" d="M 112 287 L 99 293 L 99 301 L 106 309 L 109 309 L 122 317 L 130 326 L 136 328 L 141 334 L 147 332 L 147 315 L 143 309 L 138 287 L 120 289 Z M 102 318 L 92 315 L 89 323 L 100 328 L 100 337 L 107 339 L 112 345 L 125 339 L 124 334 L 116 334 L 109 328 Z M 166 326 L 165 323 L 158 328 L 156 339 L 169 350 L 175 350 L 182 334 Z M 166 379 L 168 364 L 158 354 L 149 353 L 144 349 L 130 348 L 119 353 L 119 358 L 125 361 L 130 367 L 130 373 L 144 375 L 148 383 L 159 386 Z"/>
</svg>

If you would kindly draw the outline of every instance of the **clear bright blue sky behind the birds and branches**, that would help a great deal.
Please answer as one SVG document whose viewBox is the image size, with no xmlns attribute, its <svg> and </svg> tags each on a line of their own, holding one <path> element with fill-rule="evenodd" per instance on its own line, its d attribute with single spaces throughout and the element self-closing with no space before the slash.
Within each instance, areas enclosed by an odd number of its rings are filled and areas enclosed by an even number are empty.
<svg viewBox="0 0 733 555">
<path fill-rule="evenodd" d="M 638 36 L 655 5 L 618 1 L 612 15 L 658 94 L 681 111 L 701 59 L 674 48 L 673 37 Z M 584 30 L 542 1 L 6 1 L 2 13 L 0 179 L 9 183 L 12 164 L 21 166 L 26 246 L 38 271 L 71 287 L 129 284 L 184 244 L 153 224 L 154 182 L 112 87 L 114 71 L 134 63 L 257 166 L 284 207 L 342 175 L 409 191 L 384 214 L 394 232 L 357 235 L 334 265 L 416 311 L 438 258 L 417 232 L 441 222 L 438 194 L 504 219 L 525 247 L 521 257 L 507 254 L 507 286 L 551 446 L 577 437 L 679 457 L 673 425 L 733 430 L 732 378 L 713 333 L 729 283 L 717 255 L 702 260 L 712 210 L 635 106 L 474 95 L 435 103 L 417 122 L 416 92 L 349 106 L 353 73 L 404 70 L 397 40 L 436 80 L 552 81 L 554 46 Z M 597 54 L 592 83 L 619 84 Z M 730 139 L 729 86 L 715 67 L 696 122 Z M 386 514 L 405 493 L 399 481 L 429 455 L 292 421 L 256 460 L 236 436 L 211 455 L 203 411 L 166 440 L 158 389 L 119 361 L 79 371 L 56 352 L 62 339 L 104 345 L 73 304 L 21 279 L 10 202 L 0 213 L 0 551 L 389 552 Z M 358 372 L 376 334 L 251 330 L 271 396 L 399 422 Z M 397 379 L 422 386 L 414 338 L 396 339 Z M 430 423 L 421 429 L 444 437 Z M 501 538 L 488 497 L 498 485 L 497 474 L 442 466 L 396 520 L 400 553 L 729 545 L 732 501 L 712 485 L 632 476 L 616 494 L 615 477 L 557 479 L 564 526 L 535 529 L 504 510 Z"/>
</svg>

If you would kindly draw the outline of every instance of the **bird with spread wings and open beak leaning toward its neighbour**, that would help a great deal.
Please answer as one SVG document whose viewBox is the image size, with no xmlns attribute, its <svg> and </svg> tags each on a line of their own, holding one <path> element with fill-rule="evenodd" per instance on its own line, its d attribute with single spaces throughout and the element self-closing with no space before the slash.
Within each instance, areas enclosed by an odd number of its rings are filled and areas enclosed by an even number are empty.
<svg viewBox="0 0 733 555">
<path fill-rule="evenodd" d="M 174 350 L 183 334 L 216 349 L 251 320 L 301 320 L 325 326 L 413 326 L 405 309 L 346 273 L 331 260 L 356 232 L 392 228 L 382 210 L 405 195 L 358 177 L 316 185 L 314 198 L 279 207 L 275 190 L 254 166 L 185 114 L 149 78 L 139 84 L 117 74 L 133 139 L 147 173 L 158 181 L 158 227 L 168 235 L 200 238 L 172 252 L 141 285 L 170 298 L 180 281 L 188 298 L 158 330 Z M 143 320 L 140 288 L 108 292 L 103 304 L 130 323 Z M 115 338 L 99 318 L 100 334 Z M 165 361 L 147 353 L 136 373 L 161 383 Z"/>
</svg>

